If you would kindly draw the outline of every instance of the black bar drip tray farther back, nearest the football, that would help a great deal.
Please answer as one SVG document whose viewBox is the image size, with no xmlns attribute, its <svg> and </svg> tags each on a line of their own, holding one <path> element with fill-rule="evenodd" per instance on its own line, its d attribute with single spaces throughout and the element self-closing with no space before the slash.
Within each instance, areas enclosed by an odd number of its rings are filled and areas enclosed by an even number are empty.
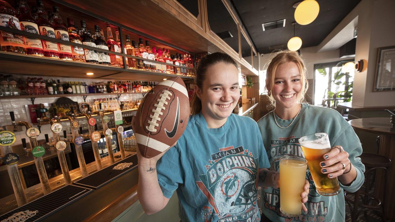
<svg viewBox="0 0 395 222">
<path fill-rule="evenodd" d="M 105 167 L 83 179 L 73 182 L 73 184 L 80 186 L 87 186 L 97 189 L 115 178 L 120 177 L 124 173 L 137 167 L 137 155 L 129 156 L 113 165 Z"/>
</svg>

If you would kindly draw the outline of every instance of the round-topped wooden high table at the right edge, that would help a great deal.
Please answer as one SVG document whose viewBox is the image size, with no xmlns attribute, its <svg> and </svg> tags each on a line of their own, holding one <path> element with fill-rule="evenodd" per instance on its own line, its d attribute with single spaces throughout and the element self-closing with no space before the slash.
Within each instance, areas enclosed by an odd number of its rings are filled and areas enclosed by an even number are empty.
<svg viewBox="0 0 395 222">
<path fill-rule="evenodd" d="M 374 134 L 380 134 L 380 147 L 378 148 L 378 154 L 390 158 L 392 161 L 395 160 L 395 130 L 391 129 L 390 118 L 362 118 L 353 119 L 348 121 L 352 128 L 357 130 L 363 130 Z M 393 210 L 393 201 L 395 199 L 395 190 L 393 188 L 395 182 L 395 166 L 391 165 L 388 169 L 388 180 L 387 190 L 384 188 L 384 180 L 377 178 L 377 186 L 374 190 L 375 194 L 383 200 L 383 196 L 386 195 L 386 202 L 384 203 L 385 212 L 387 214 L 387 220 L 395 220 L 395 211 Z M 381 173 L 380 173 L 381 174 Z M 379 175 L 378 175 L 379 176 Z M 381 175 L 383 176 L 383 175 Z"/>
</svg>

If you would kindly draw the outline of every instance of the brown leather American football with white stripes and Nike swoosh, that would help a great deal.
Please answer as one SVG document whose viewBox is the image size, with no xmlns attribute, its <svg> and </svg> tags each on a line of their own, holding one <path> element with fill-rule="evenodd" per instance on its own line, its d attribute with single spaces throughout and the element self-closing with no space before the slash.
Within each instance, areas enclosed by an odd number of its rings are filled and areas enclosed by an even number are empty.
<svg viewBox="0 0 395 222">
<path fill-rule="evenodd" d="M 152 158 L 173 145 L 189 119 L 188 91 L 180 77 L 147 92 L 135 117 L 135 136 L 142 156 Z"/>
</svg>

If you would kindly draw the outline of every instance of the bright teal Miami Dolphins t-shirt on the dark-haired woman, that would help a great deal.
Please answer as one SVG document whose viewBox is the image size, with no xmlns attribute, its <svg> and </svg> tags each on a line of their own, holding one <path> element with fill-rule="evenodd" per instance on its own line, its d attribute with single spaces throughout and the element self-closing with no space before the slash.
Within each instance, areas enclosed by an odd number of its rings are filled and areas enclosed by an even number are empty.
<svg viewBox="0 0 395 222">
<path fill-rule="evenodd" d="M 231 114 L 209 129 L 199 113 L 158 161 L 157 173 L 165 197 L 177 191 L 182 222 L 258 222 L 258 169 L 269 166 L 253 119 Z"/>
</svg>

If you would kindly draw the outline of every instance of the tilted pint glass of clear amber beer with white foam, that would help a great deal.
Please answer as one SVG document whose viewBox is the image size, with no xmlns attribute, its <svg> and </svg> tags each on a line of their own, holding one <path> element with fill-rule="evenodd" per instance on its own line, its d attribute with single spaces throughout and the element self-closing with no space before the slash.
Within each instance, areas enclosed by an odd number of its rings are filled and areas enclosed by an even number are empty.
<svg viewBox="0 0 395 222">
<path fill-rule="evenodd" d="M 324 154 L 331 150 L 328 134 L 316 133 L 306 135 L 299 139 L 303 154 L 307 160 L 314 184 L 318 194 L 322 196 L 334 196 L 340 193 L 337 177 L 328 178 L 327 174 L 321 173 L 320 162 L 324 161 Z"/>
</svg>

